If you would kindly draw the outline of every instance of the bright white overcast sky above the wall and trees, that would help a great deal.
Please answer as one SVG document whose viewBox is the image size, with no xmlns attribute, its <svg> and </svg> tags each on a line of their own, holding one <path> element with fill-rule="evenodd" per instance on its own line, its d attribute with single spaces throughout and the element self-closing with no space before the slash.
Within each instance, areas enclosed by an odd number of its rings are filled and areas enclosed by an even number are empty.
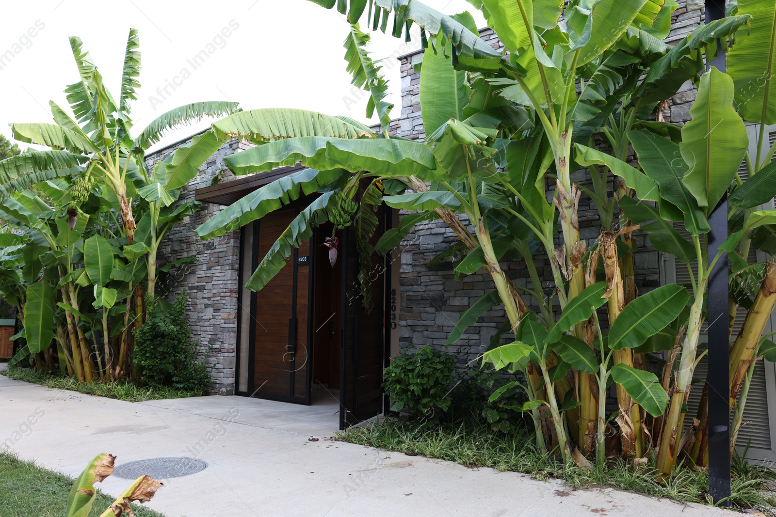
<svg viewBox="0 0 776 517">
<path fill-rule="evenodd" d="M 485 25 L 466 0 L 424 3 L 450 15 L 469 10 L 478 26 Z M 230 22 L 230 36 L 224 37 L 221 31 L 229 29 Z M 236 101 L 243 109 L 312 109 L 377 122 L 365 118 L 365 95 L 352 104 L 356 98 L 342 48 L 348 24 L 336 9 L 326 10 L 307 0 L 28 0 L 8 2 L 0 16 L 0 55 L 8 50 L 14 53 L 12 60 L 0 62 L 0 133 L 10 138 L 10 122 L 53 122 L 49 100 L 70 111 L 64 88 L 79 79 L 68 36 L 81 37 L 118 100 L 130 27 L 140 33 L 142 52 L 141 88 L 131 105 L 133 136 L 161 113 L 199 101 Z M 212 43 L 214 47 L 207 47 Z M 379 59 L 418 47 L 419 40 L 405 44 L 403 38 L 378 31 L 372 33 L 369 49 L 372 58 Z M 187 61 L 200 50 L 213 48 L 199 67 Z M 190 77 L 175 78 L 183 68 Z M 390 102 L 396 105 L 392 118 L 396 118 L 401 109 L 398 61 L 386 60 L 383 71 L 390 81 Z M 180 85 L 175 90 L 168 86 L 169 95 L 162 92 L 163 99 L 158 88 L 173 80 Z M 203 121 L 184 127 L 154 147 L 207 125 Z"/>
</svg>

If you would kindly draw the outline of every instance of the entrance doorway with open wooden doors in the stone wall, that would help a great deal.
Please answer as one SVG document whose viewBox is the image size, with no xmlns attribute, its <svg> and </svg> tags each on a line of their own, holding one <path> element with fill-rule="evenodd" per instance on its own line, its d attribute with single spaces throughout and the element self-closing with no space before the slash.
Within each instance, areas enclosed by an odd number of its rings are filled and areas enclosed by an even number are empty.
<svg viewBox="0 0 776 517">
<path fill-rule="evenodd" d="M 307 202 L 244 226 L 241 285 Z M 371 236 L 372 245 L 390 224 L 389 209 L 376 215 L 379 224 Z M 282 402 L 310 405 L 336 397 L 344 429 L 383 410 L 390 275 L 385 258 L 372 254 L 371 303 L 364 304 L 355 230 L 351 226 L 337 231 L 334 266 L 329 248 L 323 246 L 331 235 L 330 223 L 319 226 L 309 241 L 293 249 L 265 288 L 256 293 L 242 291 L 239 356 L 247 367 L 238 371 L 247 379 L 238 377 L 237 384 L 243 395 Z"/>
</svg>

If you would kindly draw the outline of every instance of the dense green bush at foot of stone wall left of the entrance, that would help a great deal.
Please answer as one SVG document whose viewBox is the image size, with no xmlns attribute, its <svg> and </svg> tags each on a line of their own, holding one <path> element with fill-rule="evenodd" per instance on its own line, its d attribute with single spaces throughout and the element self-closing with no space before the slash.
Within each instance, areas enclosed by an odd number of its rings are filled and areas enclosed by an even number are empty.
<svg viewBox="0 0 776 517">
<path fill-rule="evenodd" d="M 199 359 L 185 320 L 188 299 L 185 291 L 172 305 L 147 299 L 146 320 L 134 332 L 141 382 L 190 391 L 205 391 L 210 385 L 210 370 Z"/>
</svg>

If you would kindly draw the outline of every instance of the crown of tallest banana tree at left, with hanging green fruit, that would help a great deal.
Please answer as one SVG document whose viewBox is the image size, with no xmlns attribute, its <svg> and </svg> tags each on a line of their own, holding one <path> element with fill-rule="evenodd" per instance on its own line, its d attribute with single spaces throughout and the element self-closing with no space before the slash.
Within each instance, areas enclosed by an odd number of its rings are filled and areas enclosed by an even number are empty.
<svg viewBox="0 0 776 517">
<path fill-rule="evenodd" d="M 81 81 L 65 89 L 72 116 L 56 103 L 50 102 L 54 124 L 11 125 L 16 140 L 49 146 L 52 150 L 33 151 L 2 160 L 0 195 L 8 195 L 57 176 L 74 176 L 74 195 L 68 208 L 71 224 L 74 224 L 81 204 L 88 199 L 92 188 L 106 186 L 116 197 L 122 236 L 126 238 L 126 244 L 131 246 L 137 228 L 134 205 L 137 205 L 140 198 L 153 195 L 151 191 L 155 189 L 145 164 L 145 150 L 170 130 L 205 116 L 225 115 L 239 108 L 235 102 L 183 105 L 160 115 L 132 138 L 130 101 L 137 98 L 136 90 L 140 86 L 140 43 L 137 30 L 130 29 L 127 39 L 119 102 L 113 99 L 103 84 L 102 74 L 91 55 L 83 48 L 83 42 L 78 37 L 71 37 L 70 45 L 81 78 Z M 68 167 L 80 165 L 84 166 L 84 171 L 64 171 Z M 175 188 L 180 186 L 182 184 Z"/>
</svg>

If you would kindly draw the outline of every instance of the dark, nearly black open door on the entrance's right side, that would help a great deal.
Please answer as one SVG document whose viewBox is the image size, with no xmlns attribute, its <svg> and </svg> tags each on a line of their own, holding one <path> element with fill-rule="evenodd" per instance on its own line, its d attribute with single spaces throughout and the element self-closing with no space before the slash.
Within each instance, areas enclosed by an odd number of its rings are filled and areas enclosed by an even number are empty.
<svg viewBox="0 0 776 517">
<path fill-rule="evenodd" d="M 386 229 L 386 211 L 378 212 L 379 225 L 372 244 Z M 355 230 L 348 227 L 342 235 L 342 322 L 340 429 L 370 419 L 383 410 L 383 366 L 386 339 L 386 261 L 372 256 L 368 277 L 372 308 L 364 307 L 364 293 L 358 279 L 359 255 Z"/>
</svg>

